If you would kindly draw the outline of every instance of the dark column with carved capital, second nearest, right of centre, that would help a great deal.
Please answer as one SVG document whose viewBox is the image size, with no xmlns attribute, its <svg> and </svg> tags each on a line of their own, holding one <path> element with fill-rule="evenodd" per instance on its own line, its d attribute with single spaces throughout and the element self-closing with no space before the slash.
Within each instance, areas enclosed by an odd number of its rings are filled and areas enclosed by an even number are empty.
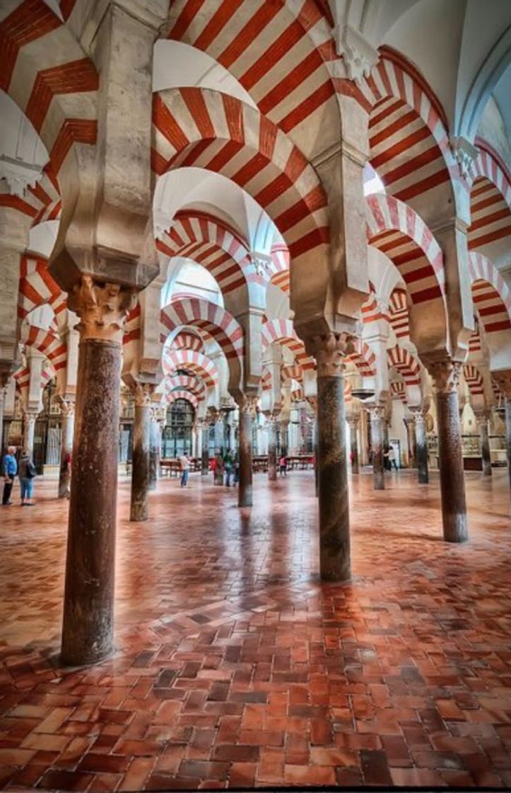
<svg viewBox="0 0 511 793">
<path fill-rule="evenodd" d="M 329 333 L 308 340 L 317 363 L 316 467 L 320 507 L 320 575 L 349 580 L 350 510 L 346 465 L 343 357 L 350 337 Z"/>
</svg>

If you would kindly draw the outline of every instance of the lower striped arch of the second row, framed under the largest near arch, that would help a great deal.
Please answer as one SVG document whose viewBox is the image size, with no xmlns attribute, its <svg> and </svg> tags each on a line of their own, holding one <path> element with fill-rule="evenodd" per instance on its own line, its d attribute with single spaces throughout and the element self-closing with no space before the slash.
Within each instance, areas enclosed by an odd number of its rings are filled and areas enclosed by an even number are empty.
<svg viewBox="0 0 511 793">
<path fill-rule="evenodd" d="M 243 360 L 243 328 L 225 308 L 199 297 L 172 301 L 161 309 L 160 340 L 165 343 L 168 334 L 181 325 L 204 329 L 221 347 L 225 358 Z"/>
</svg>

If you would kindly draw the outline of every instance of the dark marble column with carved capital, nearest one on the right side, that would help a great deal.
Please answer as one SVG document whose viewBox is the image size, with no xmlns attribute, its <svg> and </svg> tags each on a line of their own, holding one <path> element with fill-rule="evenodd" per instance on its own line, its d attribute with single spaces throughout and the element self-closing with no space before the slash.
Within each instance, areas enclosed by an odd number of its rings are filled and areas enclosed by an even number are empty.
<svg viewBox="0 0 511 793">
<path fill-rule="evenodd" d="M 441 361 L 430 367 L 437 394 L 438 458 L 444 539 L 468 539 L 458 382 L 461 364 Z"/>
</svg>

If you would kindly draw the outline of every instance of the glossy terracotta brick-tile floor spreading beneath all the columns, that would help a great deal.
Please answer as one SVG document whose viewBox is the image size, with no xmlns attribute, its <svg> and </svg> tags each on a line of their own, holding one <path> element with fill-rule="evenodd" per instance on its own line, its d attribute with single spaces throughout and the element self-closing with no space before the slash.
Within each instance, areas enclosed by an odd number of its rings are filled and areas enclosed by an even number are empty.
<svg viewBox="0 0 511 793">
<path fill-rule="evenodd" d="M 117 653 L 67 670 L 55 484 L 0 512 L 2 787 L 511 787 L 505 471 L 467 475 L 465 546 L 441 541 L 436 476 L 361 474 L 343 586 L 317 581 L 312 473 L 256 476 L 252 511 L 161 481 L 145 524 L 121 481 Z"/>
</svg>

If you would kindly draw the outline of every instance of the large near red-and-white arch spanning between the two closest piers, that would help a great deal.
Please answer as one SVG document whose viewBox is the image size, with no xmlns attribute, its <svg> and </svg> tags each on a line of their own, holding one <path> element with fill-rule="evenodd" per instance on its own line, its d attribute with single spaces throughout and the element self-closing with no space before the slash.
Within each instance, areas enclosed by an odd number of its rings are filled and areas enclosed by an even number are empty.
<svg viewBox="0 0 511 793">
<path fill-rule="evenodd" d="M 239 99 L 200 88 L 153 98 L 153 170 L 200 167 L 231 179 L 274 221 L 293 259 L 328 243 L 327 196 L 301 151 Z"/>
</svg>

